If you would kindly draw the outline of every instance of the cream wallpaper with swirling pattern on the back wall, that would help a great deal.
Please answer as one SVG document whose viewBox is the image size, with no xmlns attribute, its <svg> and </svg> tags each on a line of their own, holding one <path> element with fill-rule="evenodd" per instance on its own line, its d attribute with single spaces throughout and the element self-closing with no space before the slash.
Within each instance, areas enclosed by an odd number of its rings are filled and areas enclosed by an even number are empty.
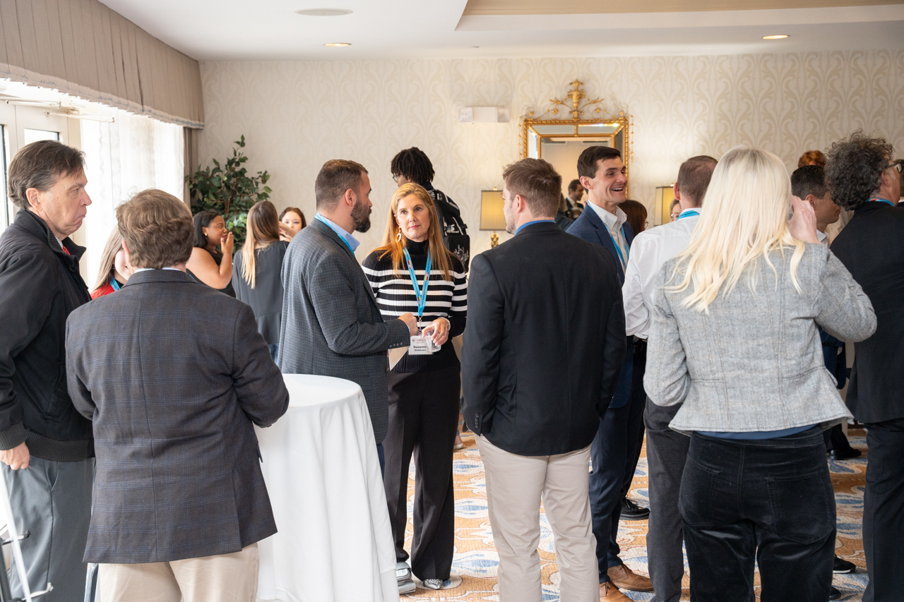
<svg viewBox="0 0 904 602">
<path fill-rule="evenodd" d="M 480 191 L 502 185 L 518 158 L 517 116 L 545 110 L 568 82 L 585 82 L 610 112 L 634 118 L 631 196 L 648 207 L 692 155 L 719 157 L 746 144 L 789 170 L 811 148 L 863 128 L 904 155 L 904 51 L 730 56 L 443 61 L 202 62 L 205 165 L 244 134 L 252 170 L 267 169 L 278 208 L 315 212 L 314 180 L 328 159 L 362 163 L 373 185 L 373 227 L 363 259 L 381 240 L 391 194 L 390 160 L 419 146 L 434 184 L 462 207 L 472 254 L 488 249 Z M 459 124 L 458 108 L 504 106 L 508 124 Z M 505 240 L 506 234 L 501 234 Z"/>
</svg>

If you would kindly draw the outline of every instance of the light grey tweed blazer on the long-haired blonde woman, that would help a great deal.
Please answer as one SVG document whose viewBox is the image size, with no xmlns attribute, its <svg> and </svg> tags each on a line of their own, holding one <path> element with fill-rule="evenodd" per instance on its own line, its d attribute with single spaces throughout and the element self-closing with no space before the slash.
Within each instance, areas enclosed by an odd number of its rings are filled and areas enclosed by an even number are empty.
<svg viewBox="0 0 904 602">
<path fill-rule="evenodd" d="M 816 325 L 857 342 L 875 331 L 876 315 L 860 285 L 823 245 L 806 245 L 798 293 L 791 254 L 772 253 L 777 275 L 760 259 L 706 313 L 682 306 L 687 291 L 664 287 L 678 259 L 665 262 L 654 293 L 644 387 L 660 406 L 683 402 L 673 429 L 827 428 L 851 417 L 825 369 Z"/>
</svg>

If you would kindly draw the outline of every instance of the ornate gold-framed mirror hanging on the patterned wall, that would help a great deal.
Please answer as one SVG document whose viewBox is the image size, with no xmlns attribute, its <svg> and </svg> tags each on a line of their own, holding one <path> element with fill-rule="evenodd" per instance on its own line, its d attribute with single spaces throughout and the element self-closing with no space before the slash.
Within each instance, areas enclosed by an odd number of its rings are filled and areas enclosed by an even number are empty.
<svg viewBox="0 0 904 602">
<path fill-rule="evenodd" d="M 574 80 L 569 85 L 565 99 L 550 99 L 552 104 L 545 113 L 534 117 L 531 111 L 523 116 L 520 132 L 521 158 L 549 161 L 562 176 L 563 194 L 568 194 L 568 184 L 578 177 L 578 157 L 588 146 L 617 148 L 626 174 L 630 172 L 631 160 L 631 123 L 625 111 L 610 115 L 600 106 L 604 99 L 587 98 L 582 81 Z M 628 187 L 630 184 L 628 177 Z"/>
</svg>

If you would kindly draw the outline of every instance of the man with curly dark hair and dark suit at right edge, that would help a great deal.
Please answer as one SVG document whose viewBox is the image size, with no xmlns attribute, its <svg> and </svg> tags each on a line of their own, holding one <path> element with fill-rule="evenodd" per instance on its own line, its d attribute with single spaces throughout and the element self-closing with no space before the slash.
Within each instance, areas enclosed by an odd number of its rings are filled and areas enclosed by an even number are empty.
<svg viewBox="0 0 904 602">
<path fill-rule="evenodd" d="M 854 350 L 847 404 L 867 428 L 863 549 L 870 582 L 864 602 L 899 600 L 904 541 L 904 210 L 901 160 L 884 138 L 862 132 L 833 144 L 825 180 L 835 203 L 853 211 L 832 250 L 876 311 L 876 334 Z"/>
</svg>

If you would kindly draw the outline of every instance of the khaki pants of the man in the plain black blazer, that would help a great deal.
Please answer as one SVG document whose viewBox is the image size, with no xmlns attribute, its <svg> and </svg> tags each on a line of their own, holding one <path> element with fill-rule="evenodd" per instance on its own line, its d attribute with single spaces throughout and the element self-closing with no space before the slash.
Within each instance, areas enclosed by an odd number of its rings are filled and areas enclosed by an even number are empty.
<svg viewBox="0 0 904 602">
<path fill-rule="evenodd" d="M 597 541 L 588 492 L 590 447 L 558 456 L 518 456 L 483 436 L 477 437 L 477 447 L 499 553 L 500 602 L 541 602 L 541 500 L 555 535 L 561 602 L 598 602 Z"/>
</svg>

